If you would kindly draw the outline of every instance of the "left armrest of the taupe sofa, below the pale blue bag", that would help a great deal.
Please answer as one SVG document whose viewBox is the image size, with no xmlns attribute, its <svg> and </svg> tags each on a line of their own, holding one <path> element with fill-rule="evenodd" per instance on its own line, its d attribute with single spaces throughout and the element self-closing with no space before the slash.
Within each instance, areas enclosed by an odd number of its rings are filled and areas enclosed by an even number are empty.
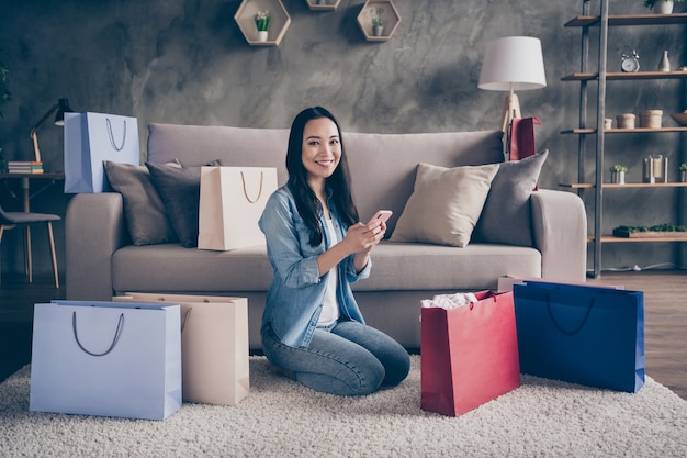
<svg viewBox="0 0 687 458">
<path fill-rule="evenodd" d="M 112 254 L 128 243 L 122 194 L 75 196 L 65 227 L 67 299 L 109 301 Z"/>
</svg>

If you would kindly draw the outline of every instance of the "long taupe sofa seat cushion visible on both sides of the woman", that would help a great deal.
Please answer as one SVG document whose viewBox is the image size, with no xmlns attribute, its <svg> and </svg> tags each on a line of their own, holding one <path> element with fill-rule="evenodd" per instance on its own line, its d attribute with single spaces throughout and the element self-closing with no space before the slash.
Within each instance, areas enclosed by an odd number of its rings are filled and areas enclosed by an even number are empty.
<svg viewBox="0 0 687 458">
<path fill-rule="evenodd" d="M 541 276 L 541 253 L 522 246 L 382 241 L 371 257 L 370 278 L 352 283 L 354 291 L 476 291 L 495 289 L 498 277 L 507 275 Z M 264 292 L 274 276 L 264 246 L 212 252 L 179 244 L 129 245 L 114 253 L 112 269 L 116 291 Z"/>
</svg>

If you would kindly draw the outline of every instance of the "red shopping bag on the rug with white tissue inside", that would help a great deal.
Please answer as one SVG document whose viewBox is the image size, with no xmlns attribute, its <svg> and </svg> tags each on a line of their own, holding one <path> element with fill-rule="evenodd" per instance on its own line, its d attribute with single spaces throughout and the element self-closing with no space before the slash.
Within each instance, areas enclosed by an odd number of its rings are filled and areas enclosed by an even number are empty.
<svg viewBox="0 0 687 458">
<path fill-rule="evenodd" d="M 513 292 L 475 297 L 454 309 L 421 310 L 425 411 L 458 416 L 520 386 Z"/>
</svg>

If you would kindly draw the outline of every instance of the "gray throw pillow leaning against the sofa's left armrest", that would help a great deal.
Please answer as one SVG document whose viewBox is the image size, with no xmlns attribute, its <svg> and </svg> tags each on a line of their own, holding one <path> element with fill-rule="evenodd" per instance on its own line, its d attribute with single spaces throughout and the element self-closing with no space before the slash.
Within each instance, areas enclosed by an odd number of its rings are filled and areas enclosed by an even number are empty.
<svg viewBox="0 0 687 458">
<path fill-rule="evenodd" d="M 124 216 L 134 245 L 177 242 L 177 234 L 167 219 L 165 204 L 144 166 L 104 160 L 105 175 L 112 189 L 122 194 Z"/>
</svg>

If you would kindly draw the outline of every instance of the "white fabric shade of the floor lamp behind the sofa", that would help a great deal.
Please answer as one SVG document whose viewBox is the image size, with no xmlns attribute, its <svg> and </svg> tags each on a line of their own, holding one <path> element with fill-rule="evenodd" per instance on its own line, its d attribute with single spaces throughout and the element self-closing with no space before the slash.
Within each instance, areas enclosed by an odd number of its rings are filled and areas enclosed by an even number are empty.
<svg viewBox="0 0 687 458">
<path fill-rule="evenodd" d="M 510 91 L 547 86 L 541 41 L 531 36 L 507 36 L 486 45 L 480 89 Z"/>
</svg>

